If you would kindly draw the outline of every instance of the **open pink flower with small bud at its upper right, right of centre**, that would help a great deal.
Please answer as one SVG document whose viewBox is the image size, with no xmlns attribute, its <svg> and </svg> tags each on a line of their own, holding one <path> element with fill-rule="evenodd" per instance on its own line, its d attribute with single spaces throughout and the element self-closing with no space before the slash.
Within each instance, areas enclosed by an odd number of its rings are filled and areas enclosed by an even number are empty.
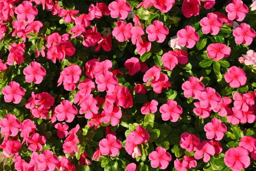
<svg viewBox="0 0 256 171">
<path fill-rule="evenodd" d="M 184 90 L 184 96 L 193 99 L 198 99 L 198 95 L 204 91 L 204 84 L 196 77 L 189 77 L 189 81 L 185 81 L 182 86 Z"/>
</svg>

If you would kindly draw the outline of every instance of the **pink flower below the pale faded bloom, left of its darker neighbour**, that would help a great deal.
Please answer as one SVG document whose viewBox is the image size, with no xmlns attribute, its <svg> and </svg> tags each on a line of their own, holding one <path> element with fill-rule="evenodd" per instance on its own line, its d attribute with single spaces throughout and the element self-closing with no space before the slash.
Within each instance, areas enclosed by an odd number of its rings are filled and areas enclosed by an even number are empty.
<svg viewBox="0 0 256 171">
<path fill-rule="evenodd" d="M 162 57 L 163 67 L 166 70 L 173 70 L 173 68 L 178 64 L 178 59 L 174 51 L 169 51 L 163 54 Z"/>
</svg>

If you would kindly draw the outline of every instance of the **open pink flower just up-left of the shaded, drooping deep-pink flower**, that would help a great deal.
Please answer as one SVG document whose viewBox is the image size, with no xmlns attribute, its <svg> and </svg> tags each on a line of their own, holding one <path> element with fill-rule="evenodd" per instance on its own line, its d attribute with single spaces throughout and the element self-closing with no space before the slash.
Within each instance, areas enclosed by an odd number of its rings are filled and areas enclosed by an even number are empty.
<svg viewBox="0 0 256 171">
<path fill-rule="evenodd" d="M 116 85 L 118 84 L 118 80 L 113 73 L 110 71 L 103 71 L 102 75 L 98 75 L 95 79 L 97 88 L 99 91 L 107 91 L 107 93 L 113 92 Z"/>
</svg>

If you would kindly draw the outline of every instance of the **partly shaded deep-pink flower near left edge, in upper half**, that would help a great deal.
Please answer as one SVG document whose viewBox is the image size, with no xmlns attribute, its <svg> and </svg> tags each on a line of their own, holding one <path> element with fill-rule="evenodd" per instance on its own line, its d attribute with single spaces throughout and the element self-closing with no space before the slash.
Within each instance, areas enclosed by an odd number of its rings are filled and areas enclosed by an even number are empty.
<svg viewBox="0 0 256 171">
<path fill-rule="evenodd" d="M 24 51 L 22 49 L 19 49 L 17 47 L 11 47 L 9 50 L 9 55 L 8 55 L 8 59 L 7 59 L 7 64 L 8 65 L 13 65 L 14 61 L 16 61 L 16 63 L 18 65 L 22 64 L 24 61 Z"/>
</svg>

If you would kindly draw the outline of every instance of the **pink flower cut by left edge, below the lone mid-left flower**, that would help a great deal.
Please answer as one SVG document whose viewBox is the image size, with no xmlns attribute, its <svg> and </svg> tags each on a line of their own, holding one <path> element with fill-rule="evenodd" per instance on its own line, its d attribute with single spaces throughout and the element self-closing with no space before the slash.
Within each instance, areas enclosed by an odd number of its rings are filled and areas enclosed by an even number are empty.
<svg viewBox="0 0 256 171">
<path fill-rule="evenodd" d="M 16 136 L 21 128 L 21 123 L 16 116 L 6 114 L 6 118 L 0 120 L 1 134 L 7 136 Z"/>
</svg>

